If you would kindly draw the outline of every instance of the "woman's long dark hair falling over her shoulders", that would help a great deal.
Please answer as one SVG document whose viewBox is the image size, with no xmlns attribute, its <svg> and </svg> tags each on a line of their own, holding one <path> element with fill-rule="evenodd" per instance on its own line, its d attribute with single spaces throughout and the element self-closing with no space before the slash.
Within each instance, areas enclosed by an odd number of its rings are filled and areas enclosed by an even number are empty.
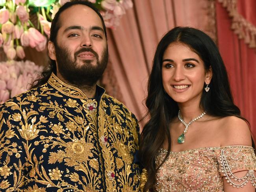
<svg viewBox="0 0 256 192">
<path fill-rule="evenodd" d="M 168 141 L 168 154 L 163 162 L 167 159 L 171 150 L 169 125 L 178 114 L 177 103 L 163 89 L 161 75 L 163 54 L 172 42 L 181 42 L 189 46 L 204 61 L 206 71 L 211 66 L 213 76 L 209 85 L 210 91 L 202 93 L 200 107 L 211 116 L 237 116 L 245 120 L 240 116 L 239 108 L 234 105 L 226 68 L 213 40 L 195 28 L 173 28 L 164 35 L 157 46 L 148 80 L 146 106 L 150 120 L 143 128 L 140 142 L 141 162 L 148 174 L 144 191 L 154 190 L 156 172 L 159 168 L 155 167 L 155 157 L 166 139 Z"/>
</svg>

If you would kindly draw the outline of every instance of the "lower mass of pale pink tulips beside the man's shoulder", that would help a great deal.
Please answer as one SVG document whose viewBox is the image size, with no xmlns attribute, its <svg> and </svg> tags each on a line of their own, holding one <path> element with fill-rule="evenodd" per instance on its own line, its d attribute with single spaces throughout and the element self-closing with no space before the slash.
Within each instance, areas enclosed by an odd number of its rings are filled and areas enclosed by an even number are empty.
<svg viewBox="0 0 256 192">
<path fill-rule="evenodd" d="M 9 98 L 29 89 L 33 79 L 36 79 L 43 66 L 31 61 L 13 61 L 0 63 L 0 104 Z"/>
</svg>

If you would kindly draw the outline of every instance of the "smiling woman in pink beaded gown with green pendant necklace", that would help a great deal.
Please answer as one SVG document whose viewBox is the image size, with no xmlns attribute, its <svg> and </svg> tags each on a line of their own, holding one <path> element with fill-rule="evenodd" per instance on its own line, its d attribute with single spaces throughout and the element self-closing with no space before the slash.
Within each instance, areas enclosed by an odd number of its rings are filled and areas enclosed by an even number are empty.
<svg viewBox="0 0 256 192">
<path fill-rule="evenodd" d="M 249 123 L 234 105 L 223 60 L 208 35 L 176 27 L 161 39 L 146 105 L 143 191 L 255 191 Z"/>
</svg>

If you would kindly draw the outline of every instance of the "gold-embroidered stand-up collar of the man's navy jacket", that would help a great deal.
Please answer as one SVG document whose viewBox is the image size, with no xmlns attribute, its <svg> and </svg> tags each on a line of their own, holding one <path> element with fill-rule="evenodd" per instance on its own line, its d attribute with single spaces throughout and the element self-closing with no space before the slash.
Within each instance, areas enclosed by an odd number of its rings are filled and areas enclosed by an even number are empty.
<svg viewBox="0 0 256 192">
<path fill-rule="evenodd" d="M 50 78 L 48 79 L 48 83 L 64 95 L 77 99 L 88 99 L 82 90 L 64 83 L 54 73 L 51 74 Z M 105 93 L 105 89 L 96 85 L 96 92 L 98 92 L 98 96 L 101 98 L 101 96 Z"/>
</svg>

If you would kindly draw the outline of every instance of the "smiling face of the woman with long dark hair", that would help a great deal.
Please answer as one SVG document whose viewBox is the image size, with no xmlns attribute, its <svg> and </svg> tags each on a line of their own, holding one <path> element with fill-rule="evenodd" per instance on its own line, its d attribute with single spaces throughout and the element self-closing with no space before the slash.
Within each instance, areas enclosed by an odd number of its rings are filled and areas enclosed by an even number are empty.
<svg viewBox="0 0 256 192">
<path fill-rule="evenodd" d="M 165 92 L 177 103 L 200 103 L 204 83 L 211 81 L 211 68 L 189 46 L 180 42 L 169 44 L 163 54 L 162 81 Z"/>
</svg>

